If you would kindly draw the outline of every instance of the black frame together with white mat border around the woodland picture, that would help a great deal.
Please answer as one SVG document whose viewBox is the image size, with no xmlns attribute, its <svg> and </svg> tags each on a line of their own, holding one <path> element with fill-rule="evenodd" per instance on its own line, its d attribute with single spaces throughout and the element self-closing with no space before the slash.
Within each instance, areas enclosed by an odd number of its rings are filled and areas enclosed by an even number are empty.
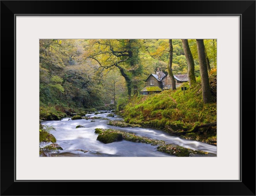
<svg viewBox="0 0 256 196">
<path fill-rule="evenodd" d="M 255 1 L 1 1 L 1 16 L 1 195 L 256 194 Z M 217 156 L 39 157 L 39 42 L 49 39 L 217 40 Z"/>
</svg>

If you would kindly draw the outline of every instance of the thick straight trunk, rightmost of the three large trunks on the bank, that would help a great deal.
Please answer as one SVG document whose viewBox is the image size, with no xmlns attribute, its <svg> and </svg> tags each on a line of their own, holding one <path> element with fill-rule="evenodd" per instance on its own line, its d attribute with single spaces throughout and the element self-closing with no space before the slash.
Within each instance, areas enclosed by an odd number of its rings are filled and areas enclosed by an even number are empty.
<svg viewBox="0 0 256 196">
<path fill-rule="evenodd" d="M 211 92 L 210 92 L 210 82 L 207 71 L 206 57 L 205 57 L 205 47 L 204 40 L 196 40 L 199 68 L 202 83 L 202 100 L 204 104 L 210 103 Z"/>
</svg>

